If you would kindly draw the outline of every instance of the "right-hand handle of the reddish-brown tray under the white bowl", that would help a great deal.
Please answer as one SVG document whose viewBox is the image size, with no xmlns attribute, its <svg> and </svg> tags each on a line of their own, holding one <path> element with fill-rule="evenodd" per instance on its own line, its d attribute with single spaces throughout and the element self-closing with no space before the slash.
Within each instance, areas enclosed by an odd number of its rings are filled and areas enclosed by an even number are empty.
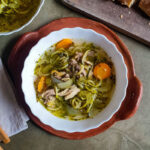
<svg viewBox="0 0 150 150">
<path fill-rule="evenodd" d="M 142 93 L 142 83 L 136 76 L 134 76 L 129 80 L 127 94 L 119 112 L 116 113 L 116 120 L 125 120 L 135 114 L 140 104 Z"/>
</svg>

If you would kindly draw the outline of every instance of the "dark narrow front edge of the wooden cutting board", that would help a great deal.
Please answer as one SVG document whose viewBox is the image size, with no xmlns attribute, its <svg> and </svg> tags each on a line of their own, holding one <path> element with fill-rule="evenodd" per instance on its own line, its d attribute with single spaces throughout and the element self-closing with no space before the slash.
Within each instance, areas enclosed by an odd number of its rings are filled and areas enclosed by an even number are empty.
<svg viewBox="0 0 150 150">
<path fill-rule="evenodd" d="M 110 28 L 112 28 L 112 29 L 114 29 L 114 30 L 116 30 L 116 31 L 118 31 L 118 32 L 120 32 L 120 33 L 123 33 L 123 34 L 125 34 L 125 35 L 127 35 L 127 36 L 129 36 L 129 37 L 131 37 L 131 38 L 134 38 L 135 40 L 137 40 L 137 41 L 139 41 L 139 42 L 141 42 L 141 43 L 144 43 L 144 44 L 147 45 L 147 46 L 150 46 L 150 42 L 149 42 L 149 41 L 144 40 L 143 38 L 141 38 L 141 37 L 139 37 L 139 36 L 136 36 L 136 35 L 134 35 L 134 34 L 128 32 L 127 30 L 124 30 L 124 29 L 122 29 L 122 28 L 119 28 L 119 27 L 117 27 L 117 26 L 115 26 L 115 25 L 113 25 L 113 24 L 111 24 L 111 23 L 109 23 L 109 22 L 106 22 L 106 21 L 104 21 L 104 20 L 102 20 L 102 19 L 100 19 L 100 18 L 98 18 L 98 17 L 96 17 L 96 16 L 94 16 L 94 15 L 88 13 L 88 12 L 85 12 L 85 11 L 81 10 L 80 8 L 76 7 L 74 4 L 70 3 L 70 1 L 68 1 L 68 0 L 61 0 L 61 2 L 62 2 L 65 6 L 69 7 L 70 9 L 72 9 L 72 10 L 74 10 L 74 11 L 77 11 L 77 12 L 81 13 L 82 15 L 85 15 L 85 16 L 87 16 L 87 17 L 89 17 L 89 18 L 91 18 L 91 19 L 94 19 L 94 20 L 96 20 L 96 21 L 100 21 L 101 23 L 103 23 L 103 24 L 109 26 Z"/>
</svg>

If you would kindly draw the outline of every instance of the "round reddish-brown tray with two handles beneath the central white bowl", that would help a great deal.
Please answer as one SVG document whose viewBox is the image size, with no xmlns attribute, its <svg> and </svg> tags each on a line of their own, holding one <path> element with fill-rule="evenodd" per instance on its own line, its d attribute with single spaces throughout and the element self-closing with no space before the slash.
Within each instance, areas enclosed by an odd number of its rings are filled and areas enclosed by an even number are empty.
<svg viewBox="0 0 150 150">
<path fill-rule="evenodd" d="M 106 123 L 102 124 L 100 127 L 96 129 L 89 130 L 87 132 L 74 132 L 74 133 L 67 133 L 64 131 L 58 131 L 53 129 L 50 126 L 47 126 L 40 122 L 40 120 L 35 117 L 32 112 L 30 111 L 30 108 L 27 106 L 24 100 L 24 95 L 21 89 L 21 71 L 23 68 L 24 60 L 26 56 L 28 55 L 30 49 L 44 36 L 48 35 L 49 33 L 60 30 L 62 28 L 72 28 L 72 27 L 82 27 L 82 28 L 88 28 L 93 29 L 96 32 L 105 35 L 110 41 L 112 41 L 118 48 L 118 50 L 122 53 L 125 63 L 128 68 L 128 88 L 127 88 L 127 95 L 124 99 L 119 111 L 113 115 L 113 117 Z M 127 49 L 127 47 L 123 44 L 123 42 L 119 39 L 119 37 L 112 32 L 109 28 L 106 26 L 89 20 L 89 19 L 83 19 L 83 18 L 62 18 L 59 20 L 52 21 L 48 25 L 42 27 L 38 31 L 35 32 L 29 32 L 24 34 L 16 43 L 13 50 L 11 51 L 11 54 L 8 58 L 8 70 L 11 74 L 14 85 L 16 87 L 16 96 L 18 99 L 18 102 L 20 102 L 27 114 L 29 115 L 30 119 L 33 120 L 38 126 L 46 130 L 47 132 L 50 132 L 52 134 L 55 134 L 57 136 L 67 138 L 67 139 L 83 139 L 90 136 L 94 136 L 98 133 L 101 133 L 108 129 L 112 124 L 114 124 L 116 121 L 128 119 L 129 117 L 133 116 L 136 112 L 141 96 L 142 96 L 142 85 L 139 79 L 136 77 L 134 72 L 134 66 L 133 61 L 131 58 L 131 55 Z M 30 87 L 29 87 L 30 90 Z"/>
</svg>

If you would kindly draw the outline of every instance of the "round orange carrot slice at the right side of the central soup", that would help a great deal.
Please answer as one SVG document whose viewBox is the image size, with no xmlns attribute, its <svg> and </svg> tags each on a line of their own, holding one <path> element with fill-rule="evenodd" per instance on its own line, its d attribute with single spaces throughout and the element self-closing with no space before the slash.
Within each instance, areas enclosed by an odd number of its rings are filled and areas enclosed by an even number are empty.
<svg viewBox="0 0 150 150">
<path fill-rule="evenodd" d="M 106 63 L 100 63 L 94 67 L 94 76 L 100 80 L 106 79 L 111 75 L 111 68 Z"/>
</svg>

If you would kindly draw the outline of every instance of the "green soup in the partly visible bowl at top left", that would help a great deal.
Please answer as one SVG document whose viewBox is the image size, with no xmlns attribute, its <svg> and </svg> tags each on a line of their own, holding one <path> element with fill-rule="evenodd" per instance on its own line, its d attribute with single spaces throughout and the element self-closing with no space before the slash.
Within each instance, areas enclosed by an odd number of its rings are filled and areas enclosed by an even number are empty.
<svg viewBox="0 0 150 150">
<path fill-rule="evenodd" d="M 0 32 L 26 24 L 36 13 L 41 0 L 0 0 Z"/>
</svg>

